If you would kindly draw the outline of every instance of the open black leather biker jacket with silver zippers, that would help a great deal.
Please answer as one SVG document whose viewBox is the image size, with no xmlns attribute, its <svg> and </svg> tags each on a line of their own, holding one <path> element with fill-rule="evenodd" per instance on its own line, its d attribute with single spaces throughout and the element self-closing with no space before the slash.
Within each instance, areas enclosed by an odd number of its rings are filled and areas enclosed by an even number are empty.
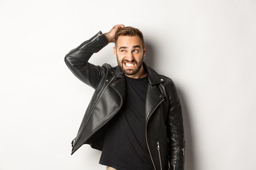
<svg viewBox="0 0 256 170">
<path fill-rule="evenodd" d="M 95 89 L 78 134 L 72 141 L 72 153 L 83 144 L 102 151 L 105 124 L 113 118 L 125 98 L 125 78 L 121 69 L 109 64 L 96 66 L 88 62 L 93 53 L 108 44 L 99 31 L 79 47 L 66 54 L 68 68 L 83 83 Z M 149 85 L 145 104 L 145 137 L 155 170 L 184 170 L 184 130 L 179 97 L 172 79 L 147 71 Z M 168 161 L 170 167 L 168 167 Z"/>
</svg>

